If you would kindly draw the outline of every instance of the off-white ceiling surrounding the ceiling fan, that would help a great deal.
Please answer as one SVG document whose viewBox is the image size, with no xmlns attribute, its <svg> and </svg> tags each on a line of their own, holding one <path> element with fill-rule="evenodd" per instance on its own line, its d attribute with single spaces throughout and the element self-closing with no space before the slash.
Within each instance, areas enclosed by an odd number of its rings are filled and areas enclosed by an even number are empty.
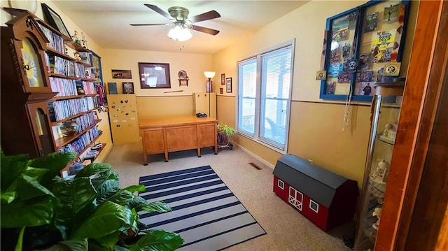
<svg viewBox="0 0 448 251">
<path fill-rule="evenodd" d="M 102 48 L 212 54 L 235 43 L 235 38 L 255 33 L 307 1 L 53 0 L 52 3 Z M 179 42 L 167 36 L 171 27 L 165 25 L 130 26 L 139 23 L 170 22 L 166 17 L 144 6 L 144 3 L 158 6 L 165 12 L 168 12 L 169 7 L 182 6 L 190 10 L 189 17 L 216 10 L 221 17 L 195 24 L 217 29 L 220 33 L 212 36 L 192 30 L 193 38 Z M 73 35 L 73 31 L 70 32 Z"/>
</svg>

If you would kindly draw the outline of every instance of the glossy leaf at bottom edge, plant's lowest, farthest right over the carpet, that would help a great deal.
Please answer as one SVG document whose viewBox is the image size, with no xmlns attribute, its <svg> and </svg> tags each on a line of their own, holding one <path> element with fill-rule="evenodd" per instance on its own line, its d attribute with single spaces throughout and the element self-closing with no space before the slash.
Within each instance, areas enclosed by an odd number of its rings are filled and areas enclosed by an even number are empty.
<svg viewBox="0 0 448 251">
<path fill-rule="evenodd" d="M 183 244 L 183 238 L 179 234 L 164 230 L 148 230 L 137 243 L 130 247 L 131 251 L 158 251 L 176 250 Z"/>
</svg>

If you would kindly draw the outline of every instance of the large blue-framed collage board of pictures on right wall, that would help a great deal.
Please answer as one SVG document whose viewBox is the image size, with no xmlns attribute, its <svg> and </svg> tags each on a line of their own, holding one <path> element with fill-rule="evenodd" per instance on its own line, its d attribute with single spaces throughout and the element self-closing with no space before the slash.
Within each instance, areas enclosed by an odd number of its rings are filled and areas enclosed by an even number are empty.
<svg viewBox="0 0 448 251">
<path fill-rule="evenodd" d="M 386 66 L 401 62 L 410 2 L 369 1 L 327 19 L 321 99 L 372 101 L 374 83 L 398 76 Z"/>
</svg>

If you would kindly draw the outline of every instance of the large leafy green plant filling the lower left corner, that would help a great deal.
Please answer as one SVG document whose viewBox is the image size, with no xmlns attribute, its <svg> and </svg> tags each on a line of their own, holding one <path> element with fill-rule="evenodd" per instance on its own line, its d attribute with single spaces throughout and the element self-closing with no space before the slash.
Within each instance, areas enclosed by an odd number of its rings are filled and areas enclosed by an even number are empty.
<svg viewBox="0 0 448 251">
<path fill-rule="evenodd" d="M 92 163 L 63 180 L 59 171 L 76 154 L 54 152 L 29 159 L 1 152 L 1 249 L 3 250 L 176 250 L 179 234 L 148 230 L 139 212 L 168 212 L 120 188 L 111 165 Z"/>
</svg>

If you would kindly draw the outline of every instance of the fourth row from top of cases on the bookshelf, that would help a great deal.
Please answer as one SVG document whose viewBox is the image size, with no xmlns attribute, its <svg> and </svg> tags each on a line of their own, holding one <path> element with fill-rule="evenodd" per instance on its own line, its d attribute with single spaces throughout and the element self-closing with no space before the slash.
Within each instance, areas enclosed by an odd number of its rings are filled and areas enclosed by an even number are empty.
<svg viewBox="0 0 448 251">
<path fill-rule="evenodd" d="M 64 99 L 48 102 L 47 106 L 50 121 L 56 122 L 97 108 L 98 101 L 95 96 L 85 96 L 80 99 Z"/>
</svg>

